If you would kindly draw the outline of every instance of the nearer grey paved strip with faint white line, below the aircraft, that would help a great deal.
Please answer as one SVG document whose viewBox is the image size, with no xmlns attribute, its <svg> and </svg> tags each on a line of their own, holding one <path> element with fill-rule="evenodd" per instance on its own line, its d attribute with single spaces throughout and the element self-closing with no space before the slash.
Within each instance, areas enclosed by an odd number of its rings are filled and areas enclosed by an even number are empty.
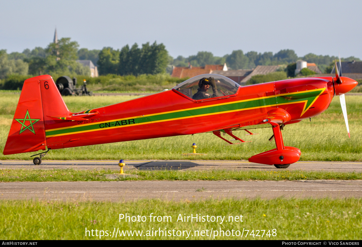
<svg viewBox="0 0 362 247">
<path fill-rule="evenodd" d="M 361 180 L 11 182 L 0 200 L 128 201 L 361 197 Z"/>
</svg>

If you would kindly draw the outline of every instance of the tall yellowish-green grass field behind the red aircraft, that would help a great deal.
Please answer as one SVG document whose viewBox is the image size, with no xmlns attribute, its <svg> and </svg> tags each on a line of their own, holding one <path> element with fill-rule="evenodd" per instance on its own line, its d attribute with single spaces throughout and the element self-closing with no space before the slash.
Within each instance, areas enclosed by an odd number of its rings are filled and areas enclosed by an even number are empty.
<svg viewBox="0 0 362 247">
<path fill-rule="evenodd" d="M 19 94 L 0 93 L 0 149 L 4 149 Z M 110 105 L 131 99 L 131 96 L 64 97 L 68 108 L 81 111 Z M 362 97 L 346 96 L 351 138 L 348 138 L 338 97 L 334 97 L 329 108 L 312 121 L 303 120 L 287 125 L 283 131 L 285 145 L 295 146 L 302 151 L 300 160 L 316 161 L 361 161 L 362 160 Z M 45 159 L 248 159 L 254 154 L 275 148 L 268 139 L 271 128 L 256 129 L 259 135 L 244 136 L 246 132 L 236 132 L 247 142 L 225 146 L 226 142 L 212 133 L 188 136 L 165 137 L 103 145 L 83 146 L 51 150 Z M 185 157 L 195 142 L 198 153 L 206 156 Z M 14 154 L 0 159 L 30 159 L 35 153 Z"/>
</svg>

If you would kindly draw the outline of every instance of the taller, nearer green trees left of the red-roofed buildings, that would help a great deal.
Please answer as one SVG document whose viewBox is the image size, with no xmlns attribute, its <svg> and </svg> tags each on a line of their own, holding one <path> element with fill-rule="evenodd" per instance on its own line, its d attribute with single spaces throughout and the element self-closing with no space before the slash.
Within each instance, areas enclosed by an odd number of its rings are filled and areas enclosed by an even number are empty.
<svg viewBox="0 0 362 247">
<path fill-rule="evenodd" d="M 58 43 L 50 43 L 46 48 L 25 49 L 22 53 L 0 50 L 0 79 L 12 74 L 39 75 L 64 74 L 90 75 L 90 70 L 76 60 L 91 60 L 98 66 L 100 75 L 139 75 L 165 73 L 168 52 L 164 44 L 154 42 L 138 47 L 124 46 L 121 50 L 104 47 L 102 50 L 79 48 L 71 38 L 61 38 Z"/>
</svg>

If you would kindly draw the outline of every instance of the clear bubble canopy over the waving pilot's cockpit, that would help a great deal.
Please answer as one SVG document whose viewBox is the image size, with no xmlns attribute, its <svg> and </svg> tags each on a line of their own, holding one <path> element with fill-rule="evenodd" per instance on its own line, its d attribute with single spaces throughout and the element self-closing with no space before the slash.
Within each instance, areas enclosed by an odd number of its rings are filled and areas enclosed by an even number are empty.
<svg viewBox="0 0 362 247">
<path fill-rule="evenodd" d="M 217 96 L 216 97 L 225 97 L 236 94 L 237 90 L 239 89 L 240 85 L 237 84 L 235 81 L 231 80 L 230 78 L 227 78 L 225 76 L 221 76 L 219 74 L 200 74 L 199 76 L 192 77 L 174 88 L 173 90 L 176 90 L 178 93 L 181 93 L 185 95 L 186 97 L 193 98 L 193 95 L 198 92 L 199 89 L 199 81 L 201 78 L 206 77 L 214 77 L 215 84 L 216 84 L 216 90 L 217 90 Z M 209 98 L 212 98 L 211 95 L 213 95 L 212 88 L 210 86 L 210 89 L 208 90 L 208 93 L 210 94 Z M 209 95 L 208 94 L 208 95 Z M 215 98 L 216 98 L 215 97 Z"/>
</svg>

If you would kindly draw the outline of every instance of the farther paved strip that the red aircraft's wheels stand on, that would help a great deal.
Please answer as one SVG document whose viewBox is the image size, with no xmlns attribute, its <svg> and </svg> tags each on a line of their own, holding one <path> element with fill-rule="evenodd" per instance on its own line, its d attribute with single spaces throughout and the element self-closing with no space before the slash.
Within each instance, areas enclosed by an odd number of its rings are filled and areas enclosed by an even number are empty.
<svg viewBox="0 0 362 247">
<path fill-rule="evenodd" d="M 33 161 L 2 160 L 0 169 L 64 169 L 73 168 L 80 170 L 119 170 L 118 160 L 43 160 L 41 165 L 35 166 Z M 173 170 L 274 170 L 270 165 L 251 163 L 248 161 L 207 161 L 207 160 L 125 160 L 125 171 L 132 169 L 173 169 Z M 338 171 L 338 172 L 362 172 L 362 162 L 339 161 L 298 161 L 291 164 L 289 170 L 304 171 Z M 279 169 L 278 169 L 279 170 Z"/>
</svg>

